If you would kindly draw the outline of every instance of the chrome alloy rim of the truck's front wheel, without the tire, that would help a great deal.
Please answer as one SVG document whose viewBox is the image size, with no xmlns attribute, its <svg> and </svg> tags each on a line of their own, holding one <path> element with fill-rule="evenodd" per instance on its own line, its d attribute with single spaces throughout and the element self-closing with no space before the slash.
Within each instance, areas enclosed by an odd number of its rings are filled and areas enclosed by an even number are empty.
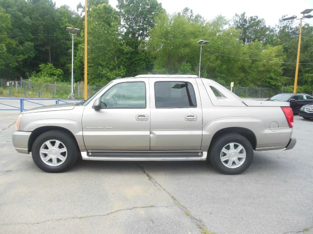
<svg viewBox="0 0 313 234">
<path fill-rule="evenodd" d="M 67 148 L 59 140 L 47 140 L 40 147 L 40 158 L 49 166 L 59 166 L 67 159 Z"/>
</svg>

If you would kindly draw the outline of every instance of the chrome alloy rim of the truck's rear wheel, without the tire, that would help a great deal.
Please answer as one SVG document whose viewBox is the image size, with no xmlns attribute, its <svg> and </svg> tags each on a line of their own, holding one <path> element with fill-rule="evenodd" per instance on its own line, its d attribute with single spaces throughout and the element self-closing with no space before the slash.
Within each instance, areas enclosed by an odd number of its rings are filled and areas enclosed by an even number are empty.
<svg viewBox="0 0 313 234">
<path fill-rule="evenodd" d="M 224 166 L 237 168 L 245 162 L 246 150 L 241 144 L 231 142 L 223 147 L 220 158 Z"/>
</svg>

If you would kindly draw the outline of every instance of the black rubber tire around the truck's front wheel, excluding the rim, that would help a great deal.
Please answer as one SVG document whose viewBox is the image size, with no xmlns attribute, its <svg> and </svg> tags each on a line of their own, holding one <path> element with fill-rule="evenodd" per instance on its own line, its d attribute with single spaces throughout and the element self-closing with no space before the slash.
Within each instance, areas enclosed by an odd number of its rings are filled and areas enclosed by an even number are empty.
<svg viewBox="0 0 313 234">
<path fill-rule="evenodd" d="M 48 165 L 52 164 L 52 158 L 47 160 L 47 163 L 44 162 L 44 160 L 42 159 L 42 156 L 40 154 L 40 150 L 41 147 L 44 147 L 44 143 L 51 140 L 52 144 L 53 144 L 53 140 L 58 140 L 60 141 L 60 145 L 64 146 L 65 150 L 67 150 L 66 153 L 62 153 L 65 154 L 65 160 L 62 161 L 59 158 L 55 158 L 55 160 L 57 161 L 57 164 L 61 163 L 60 165 Z M 56 143 L 53 145 L 56 146 Z M 43 149 L 44 149 L 43 148 Z M 64 149 L 61 148 L 60 150 Z M 48 149 L 47 149 L 48 150 Z M 32 146 L 32 158 L 33 161 L 35 162 L 35 164 L 43 171 L 45 172 L 49 172 L 49 173 L 59 173 L 59 172 L 64 172 L 66 170 L 68 170 L 69 168 L 71 168 L 74 163 L 77 160 L 77 153 L 79 152 L 77 144 L 76 144 L 76 140 L 74 139 L 74 137 L 72 137 L 71 135 L 69 135 L 68 133 L 64 132 L 64 131 L 60 131 L 60 130 L 51 130 L 48 132 L 43 133 L 42 135 L 40 135 L 39 137 L 36 138 L 36 140 L 34 141 L 34 144 Z M 55 154 L 55 153 L 53 153 Z M 43 156 L 48 156 L 48 154 L 42 154 Z M 48 158 L 48 157 L 47 157 Z"/>
</svg>

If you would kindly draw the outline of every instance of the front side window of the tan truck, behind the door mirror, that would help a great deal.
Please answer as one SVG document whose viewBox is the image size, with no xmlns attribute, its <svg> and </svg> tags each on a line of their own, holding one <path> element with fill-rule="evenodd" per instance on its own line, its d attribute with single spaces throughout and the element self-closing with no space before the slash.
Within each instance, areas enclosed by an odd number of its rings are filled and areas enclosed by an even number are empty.
<svg viewBox="0 0 313 234">
<path fill-rule="evenodd" d="M 114 85 L 101 97 L 102 108 L 146 108 L 145 82 L 123 82 Z"/>
</svg>

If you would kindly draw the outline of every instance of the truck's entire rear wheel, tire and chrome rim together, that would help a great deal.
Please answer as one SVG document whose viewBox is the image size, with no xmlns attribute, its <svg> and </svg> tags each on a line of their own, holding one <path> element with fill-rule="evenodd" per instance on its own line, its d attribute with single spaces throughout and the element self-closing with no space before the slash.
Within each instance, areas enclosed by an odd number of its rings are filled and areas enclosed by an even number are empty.
<svg viewBox="0 0 313 234">
<path fill-rule="evenodd" d="M 250 166 L 253 159 L 251 143 L 239 134 L 224 134 L 210 146 L 209 158 L 213 166 L 223 174 L 240 174 Z"/>
</svg>

